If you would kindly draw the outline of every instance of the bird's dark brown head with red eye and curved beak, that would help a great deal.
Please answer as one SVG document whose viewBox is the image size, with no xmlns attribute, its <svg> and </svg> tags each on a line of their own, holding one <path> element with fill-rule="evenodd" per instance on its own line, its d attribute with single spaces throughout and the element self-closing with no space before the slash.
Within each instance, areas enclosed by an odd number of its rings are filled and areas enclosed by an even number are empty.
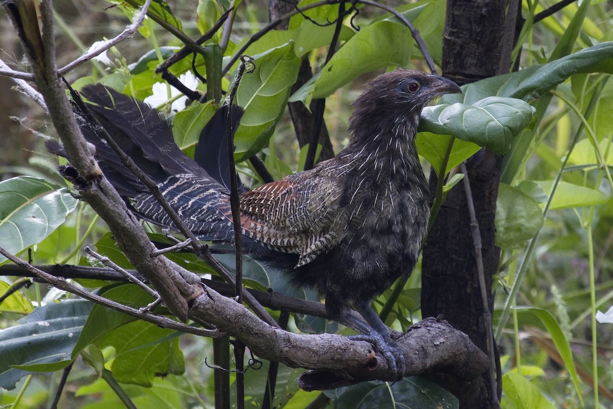
<svg viewBox="0 0 613 409">
<path fill-rule="evenodd" d="M 383 131 L 387 126 L 417 129 L 419 114 L 428 102 L 443 94 L 462 93 L 447 78 L 415 70 L 386 72 L 367 84 L 367 89 L 352 105 L 350 128 L 354 133 L 369 128 Z"/>
</svg>

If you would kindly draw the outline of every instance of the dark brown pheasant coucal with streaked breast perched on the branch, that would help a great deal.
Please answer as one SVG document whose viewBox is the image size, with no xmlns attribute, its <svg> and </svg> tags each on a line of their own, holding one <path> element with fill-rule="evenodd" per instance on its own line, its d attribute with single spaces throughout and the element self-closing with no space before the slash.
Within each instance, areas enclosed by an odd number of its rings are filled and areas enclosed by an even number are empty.
<svg viewBox="0 0 613 409">
<path fill-rule="evenodd" d="M 337 156 L 240 196 L 245 248 L 278 258 L 296 283 L 318 289 L 330 318 L 359 331 L 354 339 L 376 345 L 399 377 L 405 372 L 402 351 L 370 303 L 411 273 L 426 234 L 428 190 L 414 142 L 419 115 L 433 98 L 461 92 L 454 82 L 421 71 L 379 75 L 354 102 L 351 139 Z M 82 94 L 194 234 L 232 242 L 225 154 L 201 139 L 192 160 L 153 108 L 102 85 L 87 86 Z M 216 117 L 211 123 L 223 122 L 221 114 Z M 82 131 L 96 146 L 105 177 L 134 213 L 172 227 L 143 183 L 96 135 L 95 126 L 83 120 Z M 48 148 L 66 156 L 57 144 Z M 365 321 L 351 315 L 351 307 Z"/>
</svg>

